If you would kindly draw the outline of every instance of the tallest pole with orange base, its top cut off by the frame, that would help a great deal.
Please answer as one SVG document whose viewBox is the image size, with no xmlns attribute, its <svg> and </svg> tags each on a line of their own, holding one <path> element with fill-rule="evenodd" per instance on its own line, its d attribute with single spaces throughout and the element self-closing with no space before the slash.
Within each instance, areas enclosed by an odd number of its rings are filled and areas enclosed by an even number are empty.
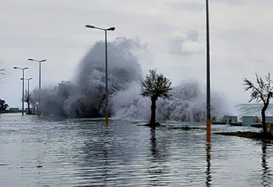
<svg viewBox="0 0 273 187">
<path fill-rule="evenodd" d="M 211 120 L 210 120 L 210 33 L 209 33 L 209 2 L 206 0 L 206 52 L 207 52 L 207 64 L 206 64 L 206 136 L 207 141 L 210 142 L 211 136 Z"/>
</svg>

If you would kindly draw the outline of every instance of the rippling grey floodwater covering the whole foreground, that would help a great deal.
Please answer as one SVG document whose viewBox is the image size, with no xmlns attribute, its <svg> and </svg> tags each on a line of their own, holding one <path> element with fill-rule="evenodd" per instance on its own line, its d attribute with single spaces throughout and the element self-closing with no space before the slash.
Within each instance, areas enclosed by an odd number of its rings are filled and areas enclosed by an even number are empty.
<svg viewBox="0 0 273 187">
<path fill-rule="evenodd" d="M 139 124 L 2 114 L 0 186 L 273 186 L 272 142 Z"/>
</svg>

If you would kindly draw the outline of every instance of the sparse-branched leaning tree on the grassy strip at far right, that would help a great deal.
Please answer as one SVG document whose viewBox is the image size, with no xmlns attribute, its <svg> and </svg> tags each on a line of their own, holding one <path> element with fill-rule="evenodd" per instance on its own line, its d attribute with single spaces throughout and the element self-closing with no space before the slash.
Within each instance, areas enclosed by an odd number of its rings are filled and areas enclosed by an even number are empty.
<svg viewBox="0 0 273 187">
<path fill-rule="evenodd" d="M 244 85 L 246 85 L 245 91 L 251 90 L 250 92 L 251 96 L 250 96 L 249 102 L 256 99 L 257 103 L 259 103 L 260 101 L 263 101 L 264 103 L 264 106 L 261 111 L 261 116 L 262 116 L 263 133 L 266 133 L 267 129 L 265 125 L 265 110 L 267 109 L 269 105 L 269 100 L 273 96 L 273 92 L 272 92 L 273 85 L 271 85 L 271 83 L 273 82 L 271 81 L 270 73 L 268 73 L 268 75 L 265 76 L 265 81 L 261 77 L 258 77 L 256 73 L 256 81 L 258 84 L 257 86 L 255 86 L 247 78 L 243 78 L 243 80 L 244 80 Z"/>
</svg>

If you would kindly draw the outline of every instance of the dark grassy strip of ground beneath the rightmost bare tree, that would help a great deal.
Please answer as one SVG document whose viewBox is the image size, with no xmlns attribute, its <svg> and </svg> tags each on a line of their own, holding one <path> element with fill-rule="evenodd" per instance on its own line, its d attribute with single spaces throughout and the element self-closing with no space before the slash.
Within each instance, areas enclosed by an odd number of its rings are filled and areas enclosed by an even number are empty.
<svg viewBox="0 0 273 187">
<path fill-rule="evenodd" d="M 237 132 L 221 132 L 221 133 L 213 133 L 220 134 L 225 136 L 237 136 L 244 138 L 253 138 L 253 139 L 261 139 L 261 140 L 273 140 L 273 136 L 271 133 L 261 133 L 261 132 L 252 132 L 252 131 L 237 131 Z"/>
</svg>

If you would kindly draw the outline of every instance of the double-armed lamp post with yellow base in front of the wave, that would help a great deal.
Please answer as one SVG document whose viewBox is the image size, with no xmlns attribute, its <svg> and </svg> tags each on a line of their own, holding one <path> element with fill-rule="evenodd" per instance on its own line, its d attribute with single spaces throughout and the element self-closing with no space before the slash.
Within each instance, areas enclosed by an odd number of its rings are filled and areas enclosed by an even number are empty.
<svg viewBox="0 0 273 187">
<path fill-rule="evenodd" d="M 88 28 L 92 29 L 100 29 L 105 31 L 105 106 L 106 106 L 106 114 L 105 114 L 105 125 L 108 125 L 108 71 L 107 71 L 107 30 L 115 30 L 115 27 L 111 27 L 109 29 L 102 29 L 95 27 L 93 25 L 86 25 Z"/>
</svg>

